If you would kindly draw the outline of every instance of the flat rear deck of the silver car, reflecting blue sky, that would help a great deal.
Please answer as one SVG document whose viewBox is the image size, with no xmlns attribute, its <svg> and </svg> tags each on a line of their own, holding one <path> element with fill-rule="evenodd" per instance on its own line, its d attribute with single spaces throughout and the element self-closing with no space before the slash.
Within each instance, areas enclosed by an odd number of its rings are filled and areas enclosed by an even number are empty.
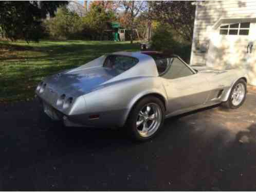
<svg viewBox="0 0 256 192">
<path fill-rule="evenodd" d="M 69 70 L 48 77 L 48 87 L 59 94 L 80 96 L 97 89 L 102 83 L 119 75 L 115 69 L 96 67 L 80 70 Z"/>
</svg>

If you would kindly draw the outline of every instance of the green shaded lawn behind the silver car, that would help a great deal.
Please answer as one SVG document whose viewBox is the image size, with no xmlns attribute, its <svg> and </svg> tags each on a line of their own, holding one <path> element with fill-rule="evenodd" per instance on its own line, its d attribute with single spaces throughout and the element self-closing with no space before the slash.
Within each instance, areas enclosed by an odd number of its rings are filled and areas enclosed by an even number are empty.
<svg viewBox="0 0 256 192">
<path fill-rule="evenodd" d="M 137 51 L 138 44 L 114 41 L 0 41 L 0 102 L 29 100 L 38 82 L 105 53 Z"/>
</svg>

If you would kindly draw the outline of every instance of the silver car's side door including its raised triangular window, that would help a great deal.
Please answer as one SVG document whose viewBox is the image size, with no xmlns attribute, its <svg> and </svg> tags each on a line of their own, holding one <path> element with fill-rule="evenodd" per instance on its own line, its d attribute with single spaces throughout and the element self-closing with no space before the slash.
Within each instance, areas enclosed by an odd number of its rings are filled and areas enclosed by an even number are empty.
<svg viewBox="0 0 256 192">
<path fill-rule="evenodd" d="M 168 95 L 168 114 L 206 102 L 210 86 L 204 75 L 196 73 L 179 57 L 173 57 L 160 74 Z"/>
</svg>

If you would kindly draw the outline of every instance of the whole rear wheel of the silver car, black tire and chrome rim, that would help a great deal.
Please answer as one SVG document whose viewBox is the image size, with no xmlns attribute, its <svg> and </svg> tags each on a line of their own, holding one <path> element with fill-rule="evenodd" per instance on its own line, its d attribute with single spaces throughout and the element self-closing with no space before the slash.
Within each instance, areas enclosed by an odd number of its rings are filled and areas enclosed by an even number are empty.
<svg viewBox="0 0 256 192">
<path fill-rule="evenodd" d="M 136 103 L 127 119 L 127 129 L 137 141 L 154 137 L 164 121 L 164 105 L 156 97 L 142 98 Z"/>
</svg>

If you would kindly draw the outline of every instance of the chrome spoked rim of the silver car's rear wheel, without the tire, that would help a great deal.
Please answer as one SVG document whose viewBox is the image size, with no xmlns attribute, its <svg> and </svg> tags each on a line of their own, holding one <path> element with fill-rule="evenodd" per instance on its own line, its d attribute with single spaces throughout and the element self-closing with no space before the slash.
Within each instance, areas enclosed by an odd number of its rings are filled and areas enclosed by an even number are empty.
<svg viewBox="0 0 256 192">
<path fill-rule="evenodd" d="M 141 137 L 150 137 L 159 128 L 162 120 L 162 111 L 158 104 L 149 103 L 140 110 L 136 127 Z"/>
</svg>

